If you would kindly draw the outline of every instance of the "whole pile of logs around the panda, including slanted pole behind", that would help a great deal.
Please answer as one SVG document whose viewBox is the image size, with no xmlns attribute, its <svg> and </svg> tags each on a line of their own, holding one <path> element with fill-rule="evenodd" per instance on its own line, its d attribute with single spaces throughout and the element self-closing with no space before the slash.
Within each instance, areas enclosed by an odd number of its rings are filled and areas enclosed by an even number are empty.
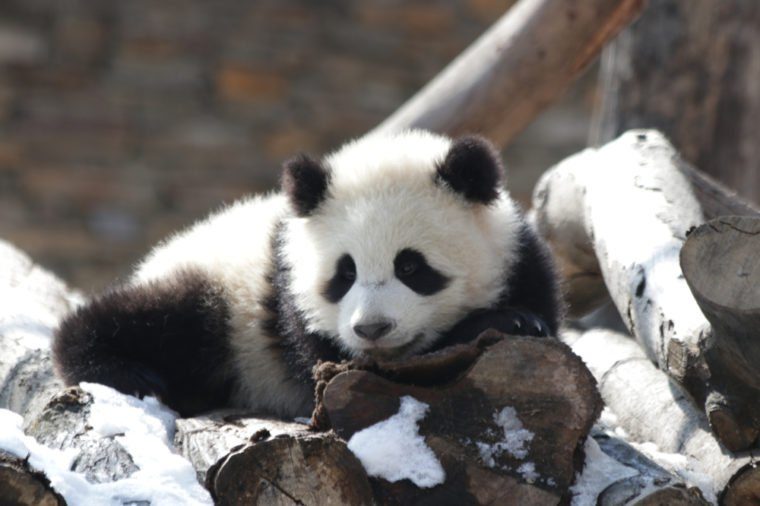
<svg viewBox="0 0 760 506">
<path fill-rule="evenodd" d="M 642 5 L 522 0 L 378 129 L 478 131 L 506 144 Z M 233 411 L 176 420 L 173 446 L 214 501 L 759 502 L 758 212 L 639 130 L 547 171 L 531 219 L 566 281 L 559 340 L 487 331 L 404 362 L 321 364 L 309 424 Z M 38 442 L 76 448 L 72 469 L 88 481 L 131 476 L 129 450 L 93 430 L 93 396 L 52 374 L 49 338 L 79 297 L 2 243 L 0 266 L 0 408 Z M 431 488 L 369 475 L 349 449 L 408 397 L 427 406 L 419 435 L 445 472 Z M 507 409 L 530 436 L 520 452 L 505 450 Z M 613 464 L 617 475 L 599 469 Z M 65 499 L 0 449 L 0 502 Z"/>
</svg>

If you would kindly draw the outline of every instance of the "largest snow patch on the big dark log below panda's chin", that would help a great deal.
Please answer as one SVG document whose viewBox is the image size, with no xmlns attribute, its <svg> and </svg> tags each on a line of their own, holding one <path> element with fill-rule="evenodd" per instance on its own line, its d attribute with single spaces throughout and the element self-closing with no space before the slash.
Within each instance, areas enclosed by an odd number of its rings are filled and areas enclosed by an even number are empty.
<svg viewBox="0 0 760 506">
<path fill-rule="evenodd" d="M 390 482 L 409 479 L 421 488 L 440 485 L 446 473 L 419 434 L 418 423 L 429 408 L 414 397 L 402 397 L 397 414 L 355 433 L 348 449 L 370 476 Z"/>
</svg>

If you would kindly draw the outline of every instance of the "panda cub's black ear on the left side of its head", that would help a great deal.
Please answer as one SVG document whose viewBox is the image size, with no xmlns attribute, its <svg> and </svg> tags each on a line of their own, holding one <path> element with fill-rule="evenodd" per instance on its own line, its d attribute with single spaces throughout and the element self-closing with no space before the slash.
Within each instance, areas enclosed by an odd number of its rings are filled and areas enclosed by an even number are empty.
<svg viewBox="0 0 760 506">
<path fill-rule="evenodd" d="M 283 164 L 281 187 L 296 214 L 309 216 L 327 196 L 330 174 L 319 161 L 298 155 Z"/>
</svg>

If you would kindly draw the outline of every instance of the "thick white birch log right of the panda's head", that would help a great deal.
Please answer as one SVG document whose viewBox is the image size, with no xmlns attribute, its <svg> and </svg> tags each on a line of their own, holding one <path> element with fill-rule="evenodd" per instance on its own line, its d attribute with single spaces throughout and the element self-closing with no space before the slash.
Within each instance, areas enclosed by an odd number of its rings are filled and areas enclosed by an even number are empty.
<svg viewBox="0 0 760 506">
<path fill-rule="evenodd" d="M 704 221 L 678 154 L 654 131 L 631 131 L 550 169 L 533 197 L 539 230 L 569 264 L 596 263 L 631 334 L 668 370 L 671 341 L 709 328 L 678 255 Z"/>
</svg>

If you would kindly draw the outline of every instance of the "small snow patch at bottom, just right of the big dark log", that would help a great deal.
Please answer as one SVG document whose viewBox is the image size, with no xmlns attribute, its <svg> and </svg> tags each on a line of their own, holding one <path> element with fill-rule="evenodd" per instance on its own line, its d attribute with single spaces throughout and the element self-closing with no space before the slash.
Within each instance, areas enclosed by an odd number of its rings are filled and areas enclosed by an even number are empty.
<svg viewBox="0 0 760 506">
<path fill-rule="evenodd" d="M 584 449 L 586 463 L 583 472 L 576 475 L 575 484 L 570 487 L 573 494 L 572 506 L 594 506 L 605 488 L 618 480 L 639 474 L 635 469 L 624 466 L 604 453 L 591 436 L 586 438 Z"/>
</svg>

